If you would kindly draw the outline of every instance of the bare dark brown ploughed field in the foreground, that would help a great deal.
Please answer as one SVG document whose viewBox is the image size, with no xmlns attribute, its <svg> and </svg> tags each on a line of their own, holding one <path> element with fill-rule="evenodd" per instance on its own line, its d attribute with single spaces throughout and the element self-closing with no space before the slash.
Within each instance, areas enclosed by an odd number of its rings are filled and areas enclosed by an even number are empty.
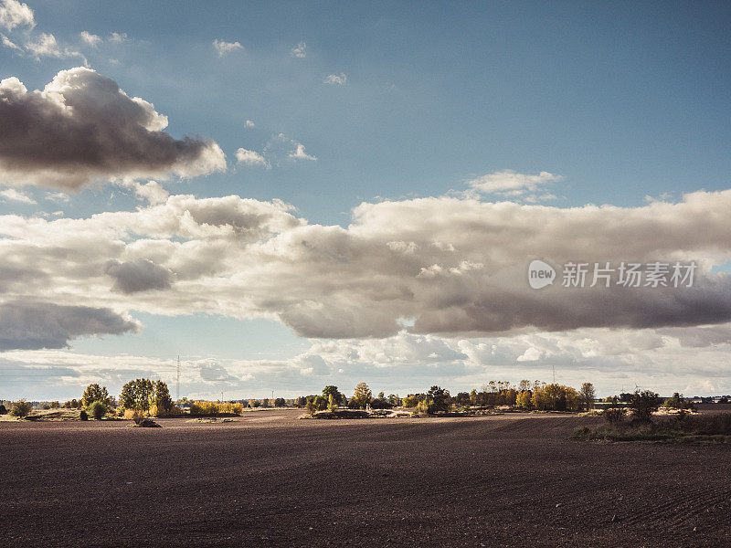
<svg viewBox="0 0 731 548">
<path fill-rule="evenodd" d="M 729 446 L 597 417 L 0 422 L 3 546 L 731 546 Z"/>
</svg>

